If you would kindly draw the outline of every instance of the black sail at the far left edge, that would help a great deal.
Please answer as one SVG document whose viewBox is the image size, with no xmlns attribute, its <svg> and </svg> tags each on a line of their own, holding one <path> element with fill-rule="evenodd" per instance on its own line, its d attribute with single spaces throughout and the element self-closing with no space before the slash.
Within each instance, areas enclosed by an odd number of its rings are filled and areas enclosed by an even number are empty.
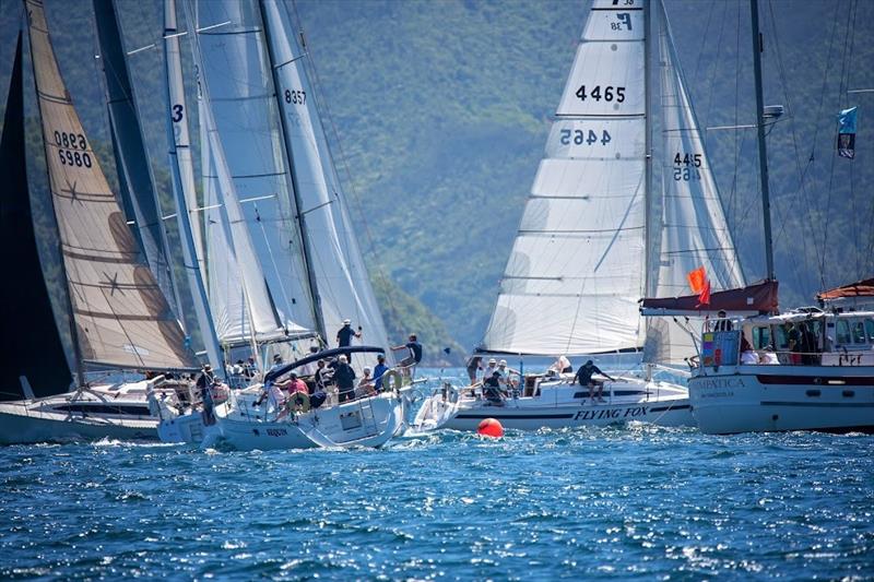
<svg viewBox="0 0 874 582">
<path fill-rule="evenodd" d="M 21 71 L 22 37 L 9 82 L 3 136 L 0 140 L 0 247 L 14 284 L 0 285 L 0 400 L 50 396 L 70 389 L 72 377 L 55 322 L 43 275 L 27 188 L 24 145 L 24 98 Z M 35 332 L 38 330 L 38 333 Z"/>
</svg>

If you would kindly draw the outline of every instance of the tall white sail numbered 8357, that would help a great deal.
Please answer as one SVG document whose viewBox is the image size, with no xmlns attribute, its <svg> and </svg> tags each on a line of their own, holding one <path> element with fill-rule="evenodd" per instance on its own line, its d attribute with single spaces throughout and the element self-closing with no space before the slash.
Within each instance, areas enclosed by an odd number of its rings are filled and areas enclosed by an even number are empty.
<svg viewBox="0 0 874 582">
<path fill-rule="evenodd" d="M 388 334 L 328 150 L 305 52 L 280 2 L 261 2 L 275 91 L 292 164 L 294 195 L 308 239 L 308 265 L 318 293 L 317 320 L 327 340 L 352 319 L 366 344 L 388 346 Z"/>
</svg>

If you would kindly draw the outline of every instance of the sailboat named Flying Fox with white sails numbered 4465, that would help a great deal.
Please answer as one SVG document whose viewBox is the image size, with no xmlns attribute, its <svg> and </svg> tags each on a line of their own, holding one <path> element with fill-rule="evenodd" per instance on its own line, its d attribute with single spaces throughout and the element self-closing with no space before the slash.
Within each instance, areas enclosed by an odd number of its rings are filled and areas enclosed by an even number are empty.
<svg viewBox="0 0 874 582">
<path fill-rule="evenodd" d="M 647 324 L 638 301 L 675 295 L 698 265 L 717 288 L 743 284 L 664 8 L 594 0 L 477 353 L 642 349 L 647 363 L 682 365 L 693 354 L 688 334 L 671 321 Z M 524 376 L 499 406 L 476 390 L 441 389 L 416 424 L 693 425 L 686 389 L 653 381 L 650 369 L 643 379 L 599 379 L 606 403 L 590 402 L 560 370 Z"/>
</svg>

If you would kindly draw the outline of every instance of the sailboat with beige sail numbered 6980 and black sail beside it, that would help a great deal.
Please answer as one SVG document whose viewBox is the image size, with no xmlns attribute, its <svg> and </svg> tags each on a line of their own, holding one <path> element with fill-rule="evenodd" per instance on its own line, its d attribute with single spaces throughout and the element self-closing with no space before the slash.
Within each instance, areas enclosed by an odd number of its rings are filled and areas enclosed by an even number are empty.
<svg viewBox="0 0 874 582">
<path fill-rule="evenodd" d="M 4 236 L 22 237 L 7 248 L 21 249 L 16 259 L 31 286 L 4 292 L 3 309 L 16 312 L 8 322 L 26 313 L 28 325 L 35 321 L 43 325 L 38 348 L 28 347 L 23 333 L 28 328 L 4 325 L 9 348 L 4 357 L 19 360 L 5 368 L 12 373 L 4 377 L 4 392 L 14 381 L 25 399 L 0 404 L 0 442 L 154 438 L 157 420 L 151 416 L 146 393 L 161 393 L 167 401 L 189 400 L 190 382 L 172 375 L 196 370 L 197 360 L 82 128 L 55 59 L 43 4 L 27 0 L 25 7 L 55 215 L 52 236 L 59 240 L 63 273 L 59 295 L 73 356 L 70 366 L 52 301 L 40 281 L 24 162 L 20 39 L 2 141 L 4 176 L 14 180 L 14 189 L 4 197 L 2 215 Z M 23 355 L 29 348 L 33 353 Z M 86 368 L 147 370 L 151 378 L 95 384 L 87 381 Z M 71 384 L 75 390 L 68 393 Z"/>
</svg>

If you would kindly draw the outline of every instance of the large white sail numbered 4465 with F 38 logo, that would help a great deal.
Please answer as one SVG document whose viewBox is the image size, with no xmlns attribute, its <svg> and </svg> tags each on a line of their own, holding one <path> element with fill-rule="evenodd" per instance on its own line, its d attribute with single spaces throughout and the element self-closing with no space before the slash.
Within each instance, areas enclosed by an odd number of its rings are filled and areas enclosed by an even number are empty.
<svg viewBox="0 0 874 582">
<path fill-rule="evenodd" d="M 637 348 L 643 329 L 646 15 L 594 0 L 482 348 Z"/>
</svg>

